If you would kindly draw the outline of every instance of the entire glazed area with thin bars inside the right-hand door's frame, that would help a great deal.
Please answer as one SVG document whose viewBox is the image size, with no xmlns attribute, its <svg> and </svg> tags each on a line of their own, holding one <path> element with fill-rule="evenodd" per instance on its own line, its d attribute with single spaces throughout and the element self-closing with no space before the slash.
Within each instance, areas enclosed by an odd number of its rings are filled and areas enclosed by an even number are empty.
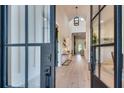
<svg viewBox="0 0 124 93">
<path fill-rule="evenodd" d="M 107 87 L 114 87 L 114 6 L 93 6 L 92 10 L 95 75 Z"/>
</svg>

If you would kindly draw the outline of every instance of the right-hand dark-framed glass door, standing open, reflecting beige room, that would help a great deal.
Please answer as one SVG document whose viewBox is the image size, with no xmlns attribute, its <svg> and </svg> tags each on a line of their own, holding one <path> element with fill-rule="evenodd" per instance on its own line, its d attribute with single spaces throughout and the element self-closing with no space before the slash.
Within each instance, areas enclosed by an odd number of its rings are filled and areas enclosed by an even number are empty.
<svg viewBox="0 0 124 93">
<path fill-rule="evenodd" d="M 121 87 L 121 32 L 121 6 L 91 6 L 91 87 Z"/>
</svg>

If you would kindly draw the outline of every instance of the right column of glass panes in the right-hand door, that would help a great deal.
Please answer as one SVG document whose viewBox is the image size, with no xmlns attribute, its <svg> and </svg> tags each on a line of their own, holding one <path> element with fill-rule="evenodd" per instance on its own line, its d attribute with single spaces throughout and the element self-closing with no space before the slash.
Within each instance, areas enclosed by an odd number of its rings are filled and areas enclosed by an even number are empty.
<svg viewBox="0 0 124 93">
<path fill-rule="evenodd" d="M 114 87 L 114 7 L 106 6 L 100 15 L 100 44 L 105 45 L 100 50 L 101 80 Z"/>
</svg>

